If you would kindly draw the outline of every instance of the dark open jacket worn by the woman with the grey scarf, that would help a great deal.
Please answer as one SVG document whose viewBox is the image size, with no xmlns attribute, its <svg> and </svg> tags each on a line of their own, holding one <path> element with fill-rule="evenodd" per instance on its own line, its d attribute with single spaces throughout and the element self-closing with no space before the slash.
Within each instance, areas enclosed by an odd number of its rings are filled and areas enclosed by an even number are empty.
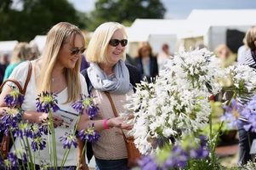
<svg viewBox="0 0 256 170">
<path fill-rule="evenodd" d="M 129 64 L 125 64 L 128 68 L 128 71 L 129 71 L 129 76 L 130 76 L 130 83 L 134 86 L 134 92 L 135 92 L 135 87 L 136 87 L 136 84 L 137 83 L 140 83 L 141 81 L 141 75 L 138 71 L 138 69 L 133 66 L 133 65 L 129 65 Z M 88 77 L 88 72 L 87 72 L 87 69 L 81 71 L 82 73 L 82 76 L 85 78 L 86 80 L 86 83 L 87 83 L 87 88 L 88 88 L 88 94 L 90 94 L 93 90 L 93 85 L 92 83 L 90 82 L 90 79 Z M 87 158 L 88 158 L 88 161 L 90 161 L 92 159 L 92 157 L 94 156 L 94 151 L 93 151 L 93 147 L 92 147 L 92 144 L 87 142 L 87 150 L 86 150 L 86 154 L 87 154 Z"/>
</svg>

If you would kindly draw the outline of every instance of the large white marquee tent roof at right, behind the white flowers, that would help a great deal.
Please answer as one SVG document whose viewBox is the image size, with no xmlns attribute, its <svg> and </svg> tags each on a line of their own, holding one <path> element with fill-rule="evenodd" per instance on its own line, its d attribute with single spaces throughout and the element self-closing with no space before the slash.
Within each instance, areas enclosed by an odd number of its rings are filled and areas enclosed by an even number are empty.
<svg viewBox="0 0 256 170">
<path fill-rule="evenodd" d="M 228 29 L 246 32 L 250 26 L 256 26 L 255 15 L 256 9 L 194 9 L 178 37 L 203 37 L 204 44 L 213 50 L 220 43 L 226 44 Z"/>
</svg>

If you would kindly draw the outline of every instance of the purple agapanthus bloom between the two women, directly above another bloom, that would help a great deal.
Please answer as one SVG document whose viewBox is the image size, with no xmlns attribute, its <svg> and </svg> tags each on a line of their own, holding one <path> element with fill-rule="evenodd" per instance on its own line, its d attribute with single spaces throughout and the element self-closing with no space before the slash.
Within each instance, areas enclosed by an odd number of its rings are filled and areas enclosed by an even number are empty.
<svg viewBox="0 0 256 170">
<path fill-rule="evenodd" d="M 93 98 L 83 94 L 81 95 L 81 100 L 75 102 L 71 106 L 80 114 L 82 114 L 83 111 L 86 110 L 90 119 L 94 118 L 94 116 L 96 116 L 96 114 L 100 110 L 97 105 L 94 105 Z"/>
</svg>

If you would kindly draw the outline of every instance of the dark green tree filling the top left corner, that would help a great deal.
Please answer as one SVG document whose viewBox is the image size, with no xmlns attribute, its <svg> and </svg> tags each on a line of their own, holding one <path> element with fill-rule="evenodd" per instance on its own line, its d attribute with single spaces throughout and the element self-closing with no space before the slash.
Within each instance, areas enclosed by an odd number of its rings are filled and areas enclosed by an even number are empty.
<svg viewBox="0 0 256 170">
<path fill-rule="evenodd" d="M 11 0 L 0 1 L 0 40 L 30 41 L 46 34 L 60 21 L 84 28 L 82 15 L 67 0 L 20 0 L 22 10 L 10 8 Z"/>
</svg>

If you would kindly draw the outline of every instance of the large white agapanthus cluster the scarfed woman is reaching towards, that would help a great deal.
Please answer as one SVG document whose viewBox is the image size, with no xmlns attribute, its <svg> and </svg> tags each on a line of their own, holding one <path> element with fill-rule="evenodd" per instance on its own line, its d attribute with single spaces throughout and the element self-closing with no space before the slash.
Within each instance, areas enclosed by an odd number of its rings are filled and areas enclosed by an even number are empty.
<svg viewBox="0 0 256 170">
<path fill-rule="evenodd" d="M 181 52 L 170 63 L 156 82 L 142 82 L 128 97 L 126 108 L 134 112 L 134 144 L 142 154 L 155 152 L 158 146 L 153 141 L 162 137 L 179 139 L 198 132 L 208 123 L 208 97 L 220 90 L 222 70 L 208 50 Z"/>
</svg>

